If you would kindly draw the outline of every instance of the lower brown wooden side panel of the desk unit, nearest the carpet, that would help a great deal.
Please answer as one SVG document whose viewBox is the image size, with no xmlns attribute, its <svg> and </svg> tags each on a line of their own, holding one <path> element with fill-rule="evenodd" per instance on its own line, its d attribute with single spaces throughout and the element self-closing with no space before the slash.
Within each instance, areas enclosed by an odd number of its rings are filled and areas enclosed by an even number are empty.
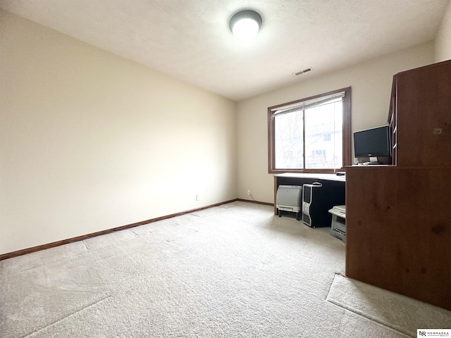
<svg viewBox="0 0 451 338">
<path fill-rule="evenodd" d="M 451 170 L 347 168 L 346 275 L 451 310 Z"/>
</svg>

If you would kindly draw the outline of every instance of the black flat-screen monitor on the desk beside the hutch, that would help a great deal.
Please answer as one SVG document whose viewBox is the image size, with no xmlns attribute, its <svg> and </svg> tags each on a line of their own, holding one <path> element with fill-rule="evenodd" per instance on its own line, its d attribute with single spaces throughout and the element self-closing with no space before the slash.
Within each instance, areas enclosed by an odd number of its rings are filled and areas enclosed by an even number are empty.
<svg viewBox="0 0 451 338">
<path fill-rule="evenodd" d="M 355 157 L 391 156 L 391 131 L 389 125 L 354 132 Z"/>
</svg>

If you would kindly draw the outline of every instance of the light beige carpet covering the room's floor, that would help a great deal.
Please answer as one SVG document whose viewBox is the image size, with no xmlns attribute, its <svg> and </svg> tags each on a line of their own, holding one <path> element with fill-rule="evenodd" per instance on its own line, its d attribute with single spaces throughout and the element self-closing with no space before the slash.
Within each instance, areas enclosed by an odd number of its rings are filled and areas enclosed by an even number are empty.
<svg viewBox="0 0 451 338">
<path fill-rule="evenodd" d="M 397 326 L 375 317 L 387 298 L 366 301 L 344 273 L 328 228 L 233 202 L 1 261 L 0 336 L 416 337 L 416 323 L 436 325 L 413 299 Z"/>
</svg>

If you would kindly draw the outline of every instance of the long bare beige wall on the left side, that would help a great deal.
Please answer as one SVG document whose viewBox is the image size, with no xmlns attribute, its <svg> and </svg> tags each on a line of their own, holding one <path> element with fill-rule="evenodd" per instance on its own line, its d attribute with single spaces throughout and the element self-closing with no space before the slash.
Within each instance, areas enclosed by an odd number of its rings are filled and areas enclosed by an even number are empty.
<svg viewBox="0 0 451 338">
<path fill-rule="evenodd" d="M 0 253 L 236 198 L 235 102 L 5 11 L 0 79 Z"/>
</svg>

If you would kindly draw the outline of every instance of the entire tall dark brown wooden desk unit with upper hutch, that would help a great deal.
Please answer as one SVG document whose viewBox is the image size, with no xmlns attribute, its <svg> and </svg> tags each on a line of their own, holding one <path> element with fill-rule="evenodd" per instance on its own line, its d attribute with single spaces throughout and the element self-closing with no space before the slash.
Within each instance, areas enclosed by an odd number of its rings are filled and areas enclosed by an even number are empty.
<svg viewBox="0 0 451 338">
<path fill-rule="evenodd" d="M 451 61 L 393 77 L 393 165 L 346 173 L 346 275 L 451 310 Z"/>
</svg>

